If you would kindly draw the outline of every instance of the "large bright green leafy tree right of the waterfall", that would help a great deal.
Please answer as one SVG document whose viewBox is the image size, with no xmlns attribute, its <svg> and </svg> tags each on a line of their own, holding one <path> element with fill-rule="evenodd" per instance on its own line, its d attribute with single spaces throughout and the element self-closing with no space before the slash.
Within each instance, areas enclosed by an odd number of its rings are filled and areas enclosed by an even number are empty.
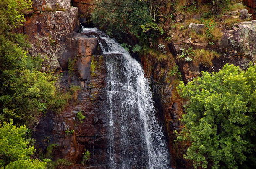
<svg viewBox="0 0 256 169">
<path fill-rule="evenodd" d="M 178 90 L 187 99 L 185 127 L 178 136 L 190 145 L 184 157 L 195 168 L 255 168 L 256 66 L 202 72 Z"/>
</svg>

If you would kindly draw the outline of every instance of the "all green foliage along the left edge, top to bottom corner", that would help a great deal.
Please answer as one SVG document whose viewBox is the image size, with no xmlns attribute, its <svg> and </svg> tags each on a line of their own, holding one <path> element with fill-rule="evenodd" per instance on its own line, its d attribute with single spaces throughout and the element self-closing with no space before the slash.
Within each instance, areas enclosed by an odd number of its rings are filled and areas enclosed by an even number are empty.
<svg viewBox="0 0 256 169">
<path fill-rule="evenodd" d="M 58 98 L 57 77 L 41 71 L 43 60 L 31 56 L 26 36 L 16 33 L 31 5 L 31 0 L 0 1 L 0 168 L 46 168 L 45 162 L 31 158 L 33 140 L 23 125 L 32 128 L 44 112 L 73 99 L 72 92 L 71 98 Z"/>
</svg>

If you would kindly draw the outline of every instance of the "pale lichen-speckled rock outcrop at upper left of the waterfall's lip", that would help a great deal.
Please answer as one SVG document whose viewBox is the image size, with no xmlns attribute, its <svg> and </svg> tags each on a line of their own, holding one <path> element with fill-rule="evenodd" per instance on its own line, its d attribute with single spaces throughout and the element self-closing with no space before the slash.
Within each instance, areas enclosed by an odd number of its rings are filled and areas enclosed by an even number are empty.
<svg viewBox="0 0 256 169">
<path fill-rule="evenodd" d="M 45 4 L 56 6 L 49 11 L 34 12 L 26 16 L 23 33 L 28 35 L 32 44 L 30 53 L 48 58 L 44 64 L 46 70 L 60 69 L 58 59 L 63 56 L 67 48 L 67 39 L 73 31 L 79 30 L 78 9 L 70 6 L 69 0 L 35 0 L 34 8 L 44 9 Z"/>
</svg>

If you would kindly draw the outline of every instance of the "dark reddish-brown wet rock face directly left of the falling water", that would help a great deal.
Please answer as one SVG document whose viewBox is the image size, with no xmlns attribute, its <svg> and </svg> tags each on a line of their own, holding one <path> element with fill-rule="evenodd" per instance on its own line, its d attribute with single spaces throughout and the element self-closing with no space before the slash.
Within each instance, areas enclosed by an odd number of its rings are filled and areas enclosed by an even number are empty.
<svg viewBox="0 0 256 169">
<path fill-rule="evenodd" d="M 82 153 L 88 150 L 91 158 L 89 166 L 97 164 L 95 169 L 104 169 L 107 164 L 107 108 L 105 79 L 105 56 L 86 56 L 81 58 L 87 62 L 77 61 L 89 72 L 86 80 L 73 80 L 72 83 L 81 86 L 78 103 L 70 105 L 61 114 L 48 113 L 37 126 L 35 138 L 38 146 L 45 150 L 50 144 L 57 144 L 55 159 L 65 158 L 75 164 L 80 164 Z M 91 72 L 91 63 L 97 64 L 97 69 Z M 67 72 L 64 72 L 64 74 Z M 62 82 L 67 83 L 67 82 Z M 80 122 L 76 114 L 81 112 L 86 118 Z M 47 127 L 46 127 L 47 126 Z M 73 131 L 73 133 L 68 133 Z M 83 168 L 83 167 L 82 167 Z"/>
</svg>

